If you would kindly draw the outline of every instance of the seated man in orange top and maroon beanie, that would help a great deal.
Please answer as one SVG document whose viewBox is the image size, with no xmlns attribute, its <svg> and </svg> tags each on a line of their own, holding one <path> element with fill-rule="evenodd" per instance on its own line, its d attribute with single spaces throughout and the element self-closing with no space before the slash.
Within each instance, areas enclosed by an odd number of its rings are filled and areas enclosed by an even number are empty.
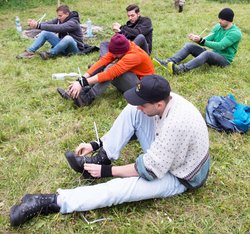
<svg viewBox="0 0 250 234">
<path fill-rule="evenodd" d="M 93 64 L 83 77 L 73 82 L 67 91 L 58 88 L 59 94 L 65 99 L 73 99 L 78 107 L 87 106 L 105 92 L 110 83 L 125 92 L 143 76 L 154 73 L 149 55 L 124 35 L 116 33 L 108 49 L 109 52 Z"/>
</svg>

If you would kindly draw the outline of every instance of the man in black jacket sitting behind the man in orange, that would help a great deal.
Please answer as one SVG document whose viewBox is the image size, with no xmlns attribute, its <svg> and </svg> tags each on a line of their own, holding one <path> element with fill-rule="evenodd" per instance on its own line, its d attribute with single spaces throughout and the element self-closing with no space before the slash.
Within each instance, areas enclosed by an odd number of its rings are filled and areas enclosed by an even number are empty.
<svg viewBox="0 0 250 234">
<path fill-rule="evenodd" d="M 125 25 L 114 23 L 112 29 L 115 33 L 123 34 L 127 39 L 134 41 L 148 54 L 152 51 L 153 26 L 149 17 L 140 15 L 140 8 L 131 4 L 127 8 L 128 21 Z M 100 54 L 103 56 L 108 52 L 109 42 L 102 42 L 100 45 Z"/>
</svg>

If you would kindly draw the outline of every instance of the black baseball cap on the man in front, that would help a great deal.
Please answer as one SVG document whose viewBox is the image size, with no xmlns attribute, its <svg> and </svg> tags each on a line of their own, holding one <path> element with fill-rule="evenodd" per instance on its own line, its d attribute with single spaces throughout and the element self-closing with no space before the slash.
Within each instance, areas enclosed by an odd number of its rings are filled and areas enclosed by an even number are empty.
<svg viewBox="0 0 250 234">
<path fill-rule="evenodd" d="M 133 106 L 155 103 L 167 98 L 171 88 L 166 79 L 159 75 L 144 76 L 136 87 L 127 90 L 124 97 Z"/>
</svg>

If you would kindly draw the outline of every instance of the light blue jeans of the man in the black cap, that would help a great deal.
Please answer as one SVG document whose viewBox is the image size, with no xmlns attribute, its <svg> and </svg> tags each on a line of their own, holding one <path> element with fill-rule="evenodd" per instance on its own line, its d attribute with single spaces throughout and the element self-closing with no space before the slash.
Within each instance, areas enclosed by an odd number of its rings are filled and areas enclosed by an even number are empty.
<svg viewBox="0 0 250 234">
<path fill-rule="evenodd" d="M 154 119 L 127 105 L 102 138 L 110 159 L 118 159 L 120 151 L 136 134 L 144 152 L 154 141 Z M 82 186 L 75 189 L 58 189 L 60 212 L 87 211 L 102 207 L 152 198 L 165 198 L 181 194 L 186 187 L 170 173 L 161 179 L 147 181 L 141 177 L 112 179 L 106 183 Z"/>
</svg>

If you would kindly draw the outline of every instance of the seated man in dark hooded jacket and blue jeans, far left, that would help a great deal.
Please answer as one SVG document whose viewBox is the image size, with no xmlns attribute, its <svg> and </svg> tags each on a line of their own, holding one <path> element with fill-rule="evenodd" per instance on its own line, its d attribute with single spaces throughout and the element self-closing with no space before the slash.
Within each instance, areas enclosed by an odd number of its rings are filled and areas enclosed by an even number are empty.
<svg viewBox="0 0 250 234">
<path fill-rule="evenodd" d="M 43 30 L 34 43 L 17 58 L 32 58 L 35 52 L 48 41 L 52 48 L 50 51 L 41 52 L 42 59 L 48 59 L 58 54 L 77 54 L 84 49 L 83 32 L 80 26 L 79 14 L 70 11 L 67 5 L 61 5 L 56 9 L 57 18 L 44 23 L 29 19 L 31 28 Z M 56 35 L 58 33 L 58 36 Z"/>
</svg>

